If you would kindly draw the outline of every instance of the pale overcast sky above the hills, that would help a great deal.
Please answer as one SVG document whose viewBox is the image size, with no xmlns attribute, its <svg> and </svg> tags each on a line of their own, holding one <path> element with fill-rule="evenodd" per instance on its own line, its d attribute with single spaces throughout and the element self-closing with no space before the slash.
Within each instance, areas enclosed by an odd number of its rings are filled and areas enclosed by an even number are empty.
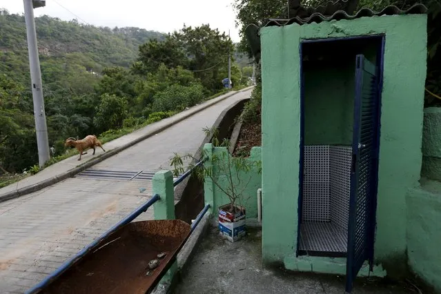
<svg viewBox="0 0 441 294">
<path fill-rule="evenodd" d="M 35 17 L 48 14 L 63 20 L 78 19 L 95 26 L 135 26 L 146 30 L 173 32 L 184 26 L 209 23 L 221 32 L 235 28 L 233 0 L 46 0 L 46 7 L 35 9 Z M 0 8 L 10 13 L 23 12 L 23 0 L 0 0 Z M 75 16 L 77 15 L 77 17 Z"/>
</svg>

